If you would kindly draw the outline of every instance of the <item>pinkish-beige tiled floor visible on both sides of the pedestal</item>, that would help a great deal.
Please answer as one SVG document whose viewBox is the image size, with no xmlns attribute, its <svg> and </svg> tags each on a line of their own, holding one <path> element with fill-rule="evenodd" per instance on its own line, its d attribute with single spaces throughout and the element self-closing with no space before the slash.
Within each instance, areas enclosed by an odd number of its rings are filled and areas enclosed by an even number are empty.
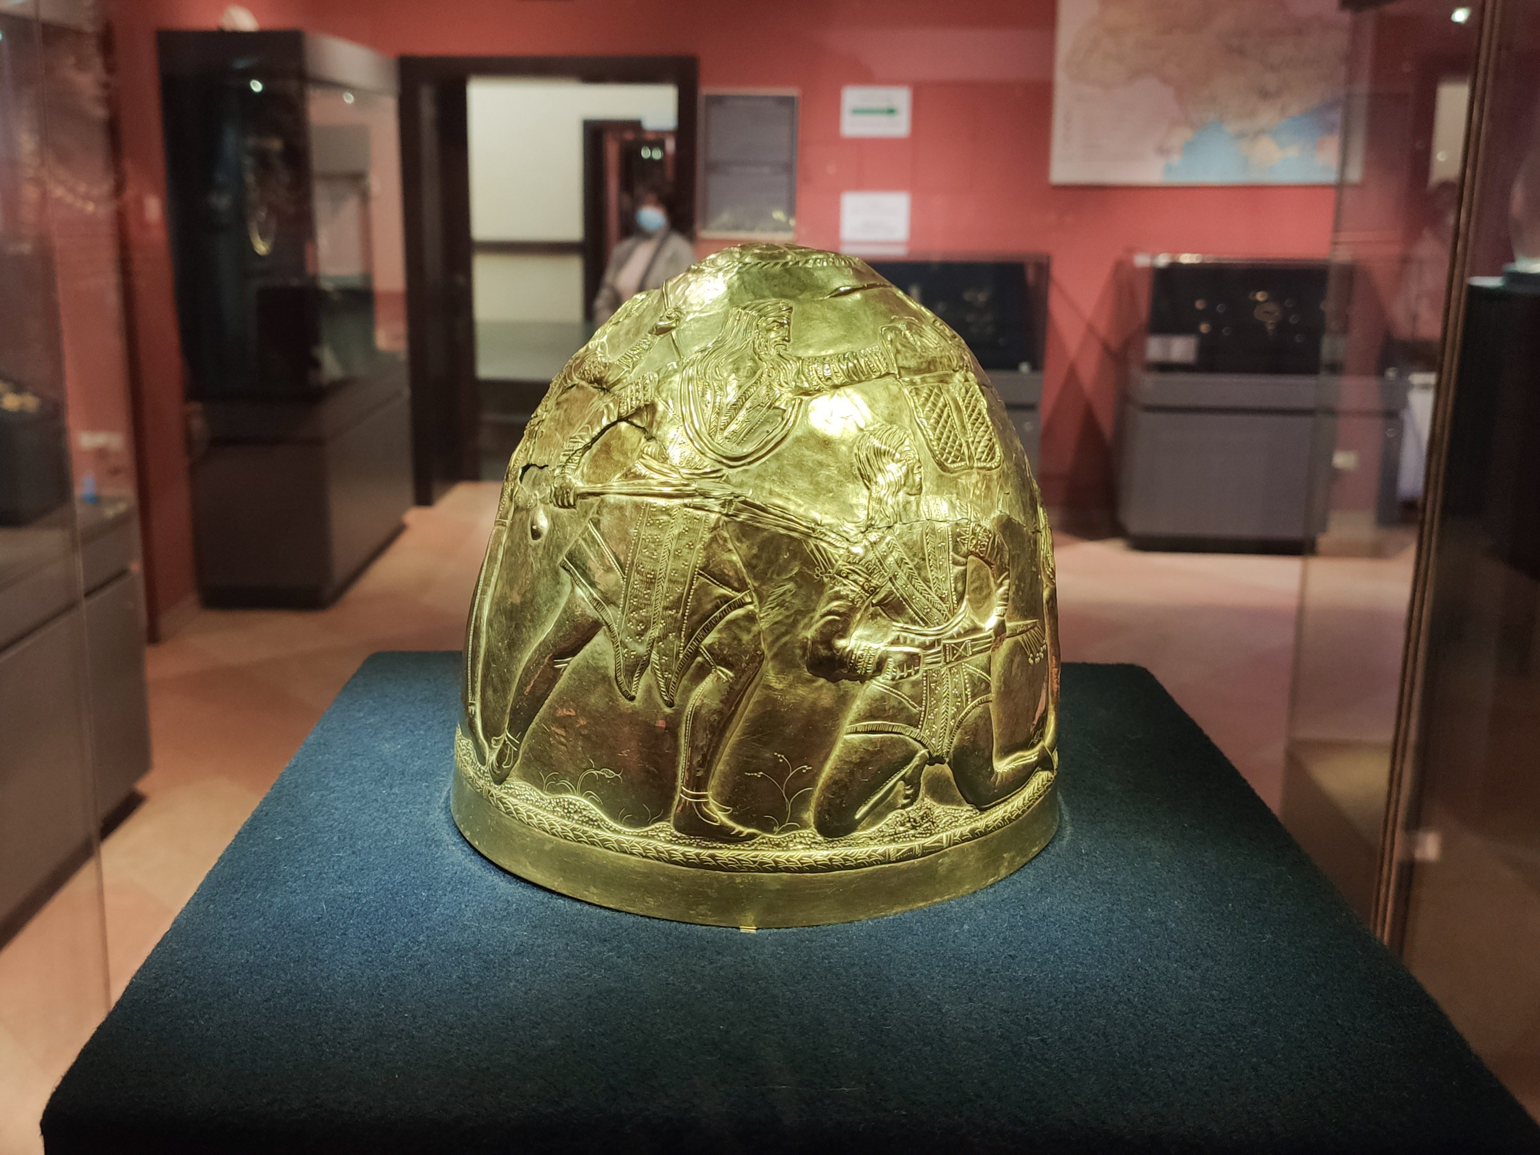
<svg viewBox="0 0 1540 1155">
<path fill-rule="evenodd" d="M 48 1092 L 326 704 L 376 650 L 456 648 L 496 505 L 464 485 L 322 613 L 206 611 L 149 653 L 156 765 L 102 847 L 108 964 L 83 870 L 0 952 L 0 1155 L 42 1149 Z M 1069 661 L 1150 667 L 1277 805 L 1297 557 L 1058 539 Z"/>
</svg>

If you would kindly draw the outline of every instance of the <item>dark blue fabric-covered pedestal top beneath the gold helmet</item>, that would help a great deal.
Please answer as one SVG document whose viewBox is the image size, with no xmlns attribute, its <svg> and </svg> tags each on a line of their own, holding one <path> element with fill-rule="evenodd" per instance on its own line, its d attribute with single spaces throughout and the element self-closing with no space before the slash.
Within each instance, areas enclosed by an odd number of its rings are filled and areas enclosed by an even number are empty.
<svg viewBox="0 0 1540 1155">
<path fill-rule="evenodd" d="M 1066 667 L 1063 825 L 1015 875 L 752 935 L 480 858 L 457 675 L 365 664 L 65 1076 L 49 1155 L 1540 1150 L 1144 670 Z"/>
</svg>

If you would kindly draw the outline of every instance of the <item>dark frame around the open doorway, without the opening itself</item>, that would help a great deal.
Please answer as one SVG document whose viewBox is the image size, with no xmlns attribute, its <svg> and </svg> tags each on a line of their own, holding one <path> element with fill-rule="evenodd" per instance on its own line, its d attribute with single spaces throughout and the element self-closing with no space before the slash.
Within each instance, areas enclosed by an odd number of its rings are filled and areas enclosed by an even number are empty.
<svg viewBox="0 0 1540 1155">
<path fill-rule="evenodd" d="M 675 226 L 693 239 L 701 69 L 693 55 L 403 55 L 399 65 L 413 490 L 419 505 L 431 505 L 480 476 L 467 80 L 673 85 Z"/>
</svg>

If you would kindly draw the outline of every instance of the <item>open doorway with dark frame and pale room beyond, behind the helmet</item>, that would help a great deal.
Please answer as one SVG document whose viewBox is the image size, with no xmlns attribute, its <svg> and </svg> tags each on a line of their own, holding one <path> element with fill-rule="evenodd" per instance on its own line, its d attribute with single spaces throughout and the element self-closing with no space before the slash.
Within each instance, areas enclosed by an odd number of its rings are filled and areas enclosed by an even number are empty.
<svg viewBox="0 0 1540 1155">
<path fill-rule="evenodd" d="M 695 233 L 693 57 L 402 57 L 419 504 L 502 476 L 591 336 L 636 189 Z"/>
</svg>

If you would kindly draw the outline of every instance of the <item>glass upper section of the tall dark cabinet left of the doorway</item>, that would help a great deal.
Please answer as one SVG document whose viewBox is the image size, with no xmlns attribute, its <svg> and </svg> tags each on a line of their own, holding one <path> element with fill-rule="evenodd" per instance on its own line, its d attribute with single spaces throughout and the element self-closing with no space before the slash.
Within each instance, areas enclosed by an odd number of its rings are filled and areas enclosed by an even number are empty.
<svg viewBox="0 0 1540 1155">
<path fill-rule="evenodd" d="M 209 66 L 162 83 L 191 393 L 305 396 L 400 362 L 396 99 Z"/>
</svg>

